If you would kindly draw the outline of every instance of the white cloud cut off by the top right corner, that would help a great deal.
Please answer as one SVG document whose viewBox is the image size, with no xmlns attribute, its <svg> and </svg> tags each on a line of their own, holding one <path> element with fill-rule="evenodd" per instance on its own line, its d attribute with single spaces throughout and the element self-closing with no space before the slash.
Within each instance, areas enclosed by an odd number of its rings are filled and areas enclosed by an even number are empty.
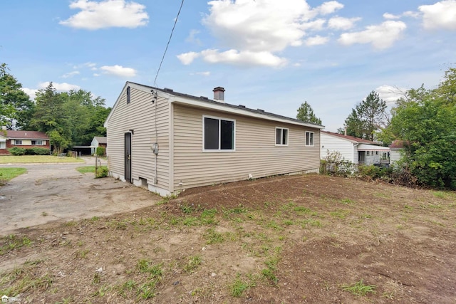
<svg viewBox="0 0 456 304">
<path fill-rule="evenodd" d="M 456 0 L 439 1 L 418 7 L 423 13 L 423 26 L 427 29 L 456 30 Z"/>
</svg>

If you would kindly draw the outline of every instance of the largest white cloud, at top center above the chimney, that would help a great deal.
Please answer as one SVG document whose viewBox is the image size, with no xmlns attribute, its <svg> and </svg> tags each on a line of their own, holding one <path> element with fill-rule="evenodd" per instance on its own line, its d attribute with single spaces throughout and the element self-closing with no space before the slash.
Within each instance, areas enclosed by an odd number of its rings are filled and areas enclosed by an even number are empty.
<svg viewBox="0 0 456 304">
<path fill-rule="evenodd" d="M 316 45 L 326 38 L 305 39 L 306 31 L 320 31 L 326 16 L 343 8 L 338 1 L 328 1 L 312 9 L 303 0 L 252 1 L 212 0 L 209 14 L 202 23 L 227 51 L 210 48 L 181 53 L 177 58 L 189 65 L 201 57 L 209 63 L 265 65 L 278 67 L 287 63 L 275 53 L 291 46 Z M 193 41 L 195 32 L 187 40 Z"/>
</svg>

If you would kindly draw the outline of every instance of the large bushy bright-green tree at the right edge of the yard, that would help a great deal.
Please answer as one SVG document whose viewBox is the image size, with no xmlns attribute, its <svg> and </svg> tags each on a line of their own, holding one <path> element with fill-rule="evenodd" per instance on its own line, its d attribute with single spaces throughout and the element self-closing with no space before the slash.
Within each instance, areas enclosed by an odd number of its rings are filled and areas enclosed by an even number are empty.
<svg viewBox="0 0 456 304">
<path fill-rule="evenodd" d="M 383 133 L 406 143 L 401 159 L 418 184 L 456 189 L 456 70 L 435 90 L 409 90 Z"/>
</svg>

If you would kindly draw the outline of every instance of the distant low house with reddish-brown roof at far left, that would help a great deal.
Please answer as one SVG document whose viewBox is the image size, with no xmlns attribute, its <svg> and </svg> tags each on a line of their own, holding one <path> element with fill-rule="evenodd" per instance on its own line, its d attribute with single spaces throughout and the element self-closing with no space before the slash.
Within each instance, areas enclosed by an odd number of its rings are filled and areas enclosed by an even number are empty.
<svg viewBox="0 0 456 304">
<path fill-rule="evenodd" d="M 9 148 L 33 148 L 40 147 L 51 150 L 49 137 L 46 133 L 24 130 L 1 130 L 0 131 L 0 155 L 9 155 Z"/>
</svg>

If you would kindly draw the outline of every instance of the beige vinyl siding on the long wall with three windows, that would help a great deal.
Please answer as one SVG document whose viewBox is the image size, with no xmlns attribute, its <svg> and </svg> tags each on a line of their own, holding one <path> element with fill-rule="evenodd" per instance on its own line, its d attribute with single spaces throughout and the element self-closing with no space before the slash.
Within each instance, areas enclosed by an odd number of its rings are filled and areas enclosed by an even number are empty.
<svg viewBox="0 0 456 304">
<path fill-rule="evenodd" d="M 274 174 L 318 169 L 320 132 L 311 127 L 271 122 L 213 110 L 174 105 L 175 190 Z M 234 152 L 203 152 L 202 117 L 235 120 Z M 289 130 L 288 146 L 276 146 L 276 127 Z M 315 133 L 306 147 L 306 131 Z M 182 182 L 182 186 L 180 186 Z"/>
</svg>

